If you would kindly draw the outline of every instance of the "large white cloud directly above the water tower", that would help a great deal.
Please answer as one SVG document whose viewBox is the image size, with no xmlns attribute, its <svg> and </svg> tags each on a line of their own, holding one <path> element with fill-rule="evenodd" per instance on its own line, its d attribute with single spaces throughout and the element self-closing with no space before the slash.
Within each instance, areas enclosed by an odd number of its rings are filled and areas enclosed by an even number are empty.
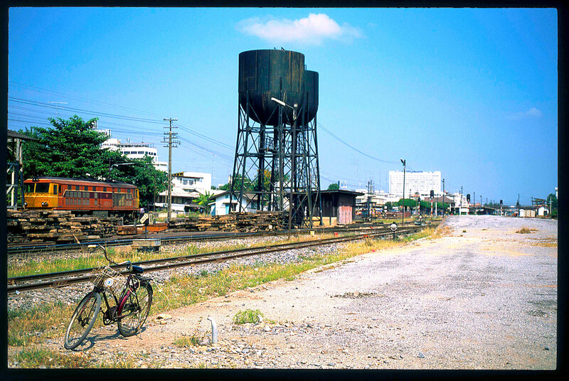
<svg viewBox="0 0 569 381">
<path fill-rule="evenodd" d="M 358 28 L 347 23 L 341 26 L 326 14 L 309 14 L 299 20 L 270 19 L 260 21 L 259 18 L 248 18 L 240 21 L 241 32 L 257 36 L 272 43 L 304 43 L 320 45 L 326 38 L 344 42 L 363 36 Z"/>
</svg>

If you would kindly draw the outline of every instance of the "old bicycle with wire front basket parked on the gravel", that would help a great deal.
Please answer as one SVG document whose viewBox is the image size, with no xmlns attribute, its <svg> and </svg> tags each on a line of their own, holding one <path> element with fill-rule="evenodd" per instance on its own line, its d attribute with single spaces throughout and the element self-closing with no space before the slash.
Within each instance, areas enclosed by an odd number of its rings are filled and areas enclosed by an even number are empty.
<svg viewBox="0 0 569 381">
<path fill-rule="evenodd" d="M 142 277 L 144 269 L 126 261 L 117 263 L 109 259 L 107 249 L 101 245 L 105 259 L 109 264 L 95 269 L 95 277 L 92 278 L 94 288 L 79 302 L 71 316 L 67 331 L 65 331 L 65 349 L 76 348 L 87 337 L 92 326 L 97 320 L 102 301 L 105 301 L 106 311 L 102 314 L 102 322 L 105 326 L 117 323 L 119 332 L 124 337 L 133 336 L 142 329 L 146 322 L 152 305 L 151 278 Z M 111 267 L 126 265 L 128 277 Z M 123 283 L 124 281 L 124 283 Z M 114 302 L 114 305 L 112 305 Z"/>
</svg>

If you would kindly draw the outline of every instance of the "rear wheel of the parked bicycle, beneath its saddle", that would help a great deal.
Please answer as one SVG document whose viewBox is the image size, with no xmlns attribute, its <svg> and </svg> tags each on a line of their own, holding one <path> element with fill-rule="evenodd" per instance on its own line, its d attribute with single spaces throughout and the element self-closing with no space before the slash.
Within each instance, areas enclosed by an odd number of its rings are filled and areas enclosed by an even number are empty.
<svg viewBox="0 0 569 381">
<path fill-rule="evenodd" d="M 127 315 L 119 318 L 119 332 L 124 337 L 133 336 L 147 321 L 152 305 L 152 286 L 148 282 L 141 283 L 136 293 L 129 293 L 127 300 L 122 304 L 122 308 L 117 312 L 117 316 Z"/>
</svg>

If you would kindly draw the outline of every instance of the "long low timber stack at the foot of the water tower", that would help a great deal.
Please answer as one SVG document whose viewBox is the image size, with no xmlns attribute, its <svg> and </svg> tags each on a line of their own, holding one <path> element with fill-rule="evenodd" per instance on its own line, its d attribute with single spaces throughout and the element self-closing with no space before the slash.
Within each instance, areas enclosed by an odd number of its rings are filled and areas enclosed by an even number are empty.
<svg viewBox="0 0 569 381">
<path fill-rule="evenodd" d="M 169 230 L 174 231 L 224 231 L 260 232 L 280 230 L 283 225 L 279 212 L 231 213 L 200 218 L 174 218 Z"/>
</svg>

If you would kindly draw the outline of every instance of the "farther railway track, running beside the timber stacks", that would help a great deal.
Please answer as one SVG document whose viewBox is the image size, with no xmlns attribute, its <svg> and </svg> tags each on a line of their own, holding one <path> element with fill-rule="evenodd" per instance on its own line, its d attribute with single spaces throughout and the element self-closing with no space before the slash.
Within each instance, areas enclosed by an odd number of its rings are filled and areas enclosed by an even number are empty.
<svg viewBox="0 0 569 381">
<path fill-rule="evenodd" d="M 405 224 L 400 227 L 412 226 L 413 223 Z M 297 229 L 292 231 L 293 234 L 309 234 L 311 231 L 316 231 L 319 233 L 334 233 L 334 232 L 358 232 L 367 230 L 380 230 L 387 231 L 388 226 L 385 225 L 368 225 L 361 224 L 355 227 L 336 227 L 336 228 L 313 228 L 313 229 Z M 214 240 L 228 240 L 232 238 L 245 238 L 245 237 L 264 237 L 267 235 L 287 235 L 289 232 L 287 230 L 277 230 L 271 232 L 220 232 L 213 234 L 203 234 L 191 233 L 191 234 L 152 234 L 150 238 L 161 240 L 161 242 L 184 242 L 184 241 L 214 241 Z M 110 240 L 88 240 L 80 243 L 73 244 L 53 244 L 53 243 L 41 243 L 41 244 L 23 244 L 23 245 L 10 245 L 7 248 L 7 254 L 9 256 L 16 254 L 32 254 L 41 252 L 65 252 L 70 250 L 84 249 L 88 245 L 105 245 L 107 247 L 118 247 L 118 246 L 128 246 L 132 245 L 132 240 L 137 240 L 142 238 L 141 235 L 136 235 L 128 238 L 110 239 Z"/>
</svg>

